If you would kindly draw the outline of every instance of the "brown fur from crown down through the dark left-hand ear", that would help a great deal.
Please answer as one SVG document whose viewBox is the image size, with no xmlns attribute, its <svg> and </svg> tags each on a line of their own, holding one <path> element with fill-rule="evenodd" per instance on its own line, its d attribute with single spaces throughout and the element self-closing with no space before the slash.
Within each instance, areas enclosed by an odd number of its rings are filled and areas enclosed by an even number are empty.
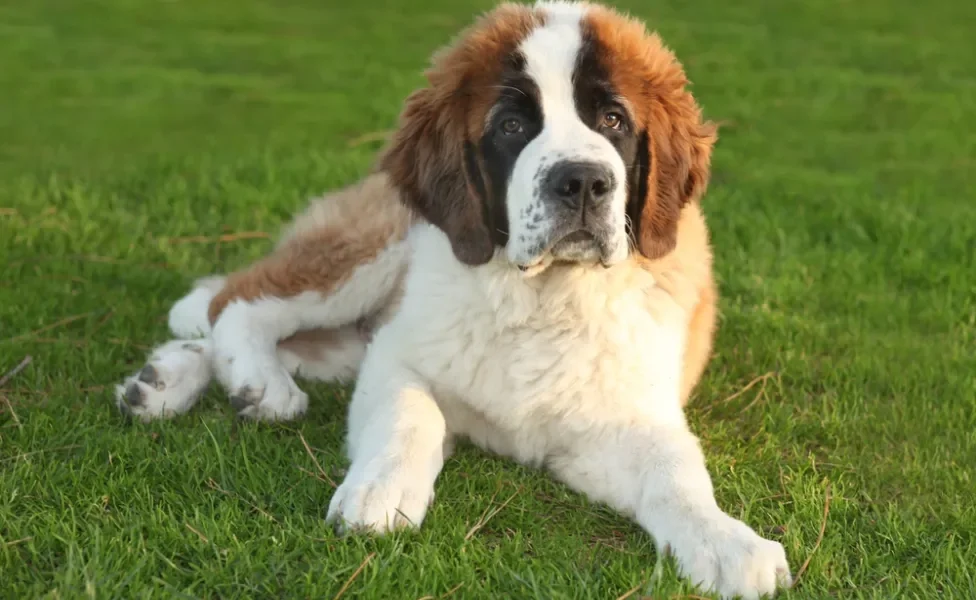
<svg viewBox="0 0 976 600">
<path fill-rule="evenodd" d="M 505 61 L 542 17 L 504 4 L 479 19 L 426 71 L 380 161 L 404 200 L 447 234 L 458 260 L 477 265 L 494 253 L 481 159 L 474 147 L 496 102 Z"/>
</svg>

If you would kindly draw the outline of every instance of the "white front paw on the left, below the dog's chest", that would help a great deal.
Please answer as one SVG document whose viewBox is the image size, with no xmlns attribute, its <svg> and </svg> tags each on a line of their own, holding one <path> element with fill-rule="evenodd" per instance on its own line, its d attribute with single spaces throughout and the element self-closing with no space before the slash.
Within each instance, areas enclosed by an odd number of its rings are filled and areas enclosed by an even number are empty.
<svg viewBox="0 0 976 600">
<path fill-rule="evenodd" d="M 378 459 L 364 468 L 353 464 L 332 495 L 326 520 L 343 533 L 419 527 L 434 500 L 436 477 L 396 460 Z"/>
</svg>

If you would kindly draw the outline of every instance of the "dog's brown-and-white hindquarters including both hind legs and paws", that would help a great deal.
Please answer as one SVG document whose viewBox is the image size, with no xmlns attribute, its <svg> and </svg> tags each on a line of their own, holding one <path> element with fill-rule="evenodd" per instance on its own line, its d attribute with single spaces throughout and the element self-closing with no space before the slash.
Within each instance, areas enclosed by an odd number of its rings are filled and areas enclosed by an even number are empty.
<svg viewBox="0 0 976 600">
<path fill-rule="evenodd" d="M 302 415 L 308 396 L 292 375 L 355 377 L 371 329 L 398 303 L 411 223 L 382 174 L 313 201 L 271 254 L 197 281 L 173 306 L 173 335 L 201 351 L 157 348 L 118 386 L 119 408 L 143 419 L 180 414 L 216 376 L 242 416 Z"/>
</svg>

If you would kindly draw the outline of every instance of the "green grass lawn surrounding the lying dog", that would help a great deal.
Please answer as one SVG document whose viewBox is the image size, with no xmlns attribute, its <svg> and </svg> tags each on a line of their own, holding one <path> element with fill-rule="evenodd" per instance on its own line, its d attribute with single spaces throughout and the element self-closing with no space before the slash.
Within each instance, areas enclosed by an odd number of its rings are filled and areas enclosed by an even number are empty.
<svg viewBox="0 0 976 600">
<path fill-rule="evenodd" d="M 490 6 L 419 4 L 0 2 L 0 376 L 33 357 L 0 389 L 0 597 L 695 594 L 631 522 L 473 449 L 420 531 L 336 537 L 348 389 L 306 384 L 288 426 L 110 402 L 191 281 L 362 175 Z M 722 506 L 806 566 L 789 598 L 976 598 L 976 3 L 915 4 L 618 3 L 725 123 L 690 417 Z"/>
</svg>

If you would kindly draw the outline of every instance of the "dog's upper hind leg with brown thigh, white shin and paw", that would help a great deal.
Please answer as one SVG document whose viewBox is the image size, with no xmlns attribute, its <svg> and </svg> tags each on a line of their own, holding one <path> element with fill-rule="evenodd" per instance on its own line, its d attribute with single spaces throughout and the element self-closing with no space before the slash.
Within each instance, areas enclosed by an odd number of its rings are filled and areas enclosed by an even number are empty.
<svg viewBox="0 0 976 600">
<path fill-rule="evenodd" d="M 382 322 L 397 303 L 411 223 L 386 176 L 372 175 L 314 201 L 274 252 L 227 278 L 209 307 L 214 370 L 242 416 L 303 414 L 308 396 L 289 371 L 332 379 L 358 370 L 365 342 L 352 328 Z M 297 361 L 309 368 L 284 364 L 280 342 L 292 338 L 285 347 L 294 358 L 294 349 L 309 350 L 308 336 L 315 335 L 330 338 L 319 349 L 340 350 Z"/>
</svg>

